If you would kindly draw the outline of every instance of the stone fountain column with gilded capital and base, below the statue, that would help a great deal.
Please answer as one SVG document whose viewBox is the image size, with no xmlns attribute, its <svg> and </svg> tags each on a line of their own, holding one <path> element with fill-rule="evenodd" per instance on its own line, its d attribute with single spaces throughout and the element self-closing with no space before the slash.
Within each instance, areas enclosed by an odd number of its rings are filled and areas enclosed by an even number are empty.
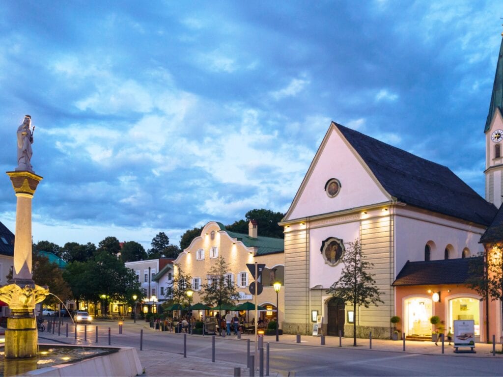
<svg viewBox="0 0 503 377">
<path fill-rule="evenodd" d="M 5 332 L 7 358 L 34 357 L 38 353 L 35 304 L 49 294 L 47 287 L 32 279 L 31 202 L 42 177 L 29 171 L 8 171 L 17 197 L 14 270 L 9 285 L 0 288 L 0 300 L 9 304 L 11 315 Z"/>
</svg>

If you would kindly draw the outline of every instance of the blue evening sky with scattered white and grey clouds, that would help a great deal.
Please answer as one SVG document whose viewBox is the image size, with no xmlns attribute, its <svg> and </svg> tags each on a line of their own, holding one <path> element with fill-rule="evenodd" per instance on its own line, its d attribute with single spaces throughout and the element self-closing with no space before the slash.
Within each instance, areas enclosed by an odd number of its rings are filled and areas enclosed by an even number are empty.
<svg viewBox="0 0 503 377">
<path fill-rule="evenodd" d="M 0 171 L 35 125 L 33 239 L 146 249 L 286 212 L 343 124 L 484 196 L 503 28 L 489 1 L 20 1 L 0 7 Z M 0 174 L 0 221 L 16 198 Z"/>
</svg>

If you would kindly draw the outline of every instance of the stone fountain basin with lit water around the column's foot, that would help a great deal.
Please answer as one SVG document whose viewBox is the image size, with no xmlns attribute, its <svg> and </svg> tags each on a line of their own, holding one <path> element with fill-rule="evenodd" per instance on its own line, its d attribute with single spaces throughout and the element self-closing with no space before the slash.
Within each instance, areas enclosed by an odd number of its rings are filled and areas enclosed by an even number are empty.
<svg viewBox="0 0 503 377">
<path fill-rule="evenodd" d="M 25 376 L 135 376 L 143 368 L 132 347 L 98 347 L 40 344 L 39 356 L 3 357 L 1 375 Z M 1 365 L 0 365 L 1 366 Z"/>
</svg>

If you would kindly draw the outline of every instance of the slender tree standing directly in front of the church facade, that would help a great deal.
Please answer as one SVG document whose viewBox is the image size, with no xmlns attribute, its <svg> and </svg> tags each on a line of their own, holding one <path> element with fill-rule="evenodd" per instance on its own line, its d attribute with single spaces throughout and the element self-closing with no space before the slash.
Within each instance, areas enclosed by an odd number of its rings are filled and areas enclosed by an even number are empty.
<svg viewBox="0 0 503 377">
<path fill-rule="evenodd" d="M 357 313 L 357 306 L 363 305 L 368 308 L 371 304 L 378 306 L 377 303 L 384 303 L 380 299 L 384 292 L 375 287 L 373 275 L 367 272 L 374 267 L 374 264 L 365 260 L 360 240 L 348 242 L 347 245 L 342 258 L 344 267 L 341 277 L 331 285 L 327 293 L 334 298 L 344 300 L 345 303 L 351 303 L 354 313 Z M 356 320 L 353 321 L 354 346 L 356 346 L 356 322 Z"/>
</svg>

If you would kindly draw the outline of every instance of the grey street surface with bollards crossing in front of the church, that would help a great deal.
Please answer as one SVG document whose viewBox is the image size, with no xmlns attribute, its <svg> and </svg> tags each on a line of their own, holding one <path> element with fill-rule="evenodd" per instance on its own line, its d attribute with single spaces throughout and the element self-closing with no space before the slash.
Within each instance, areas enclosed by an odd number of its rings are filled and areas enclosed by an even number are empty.
<svg viewBox="0 0 503 377">
<path fill-rule="evenodd" d="M 66 319 L 66 322 L 69 320 Z M 46 324 L 47 325 L 47 324 Z M 98 343 L 95 328 L 98 326 Z M 108 345 L 108 328 L 111 328 L 111 345 L 136 347 L 146 375 L 233 375 L 233 367 L 246 368 L 247 340 L 251 338 L 250 350 L 254 352 L 253 336 L 215 338 L 215 359 L 211 362 L 211 336 L 187 335 L 187 358 L 183 358 L 183 334 L 152 330 L 145 322 L 127 321 L 123 333 L 118 333 L 117 322 L 95 321 L 87 326 L 87 341 L 84 341 L 84 325 L 77 325 L 77 344 Z M 143 350 L 140 351 L 140 329 L 143 329 Z M 61 335 L 39 333 L 39 341 L 64 342 L 74 344 L 73 324 L 69 324 L 66 338 L 65 323 L 61 326 Z M 270 343 L 271 375 L 297 376 L 482 376 L 501 375 L 501 355 L 492 356 L 491 345 L 478 345 L 477 354 L 454 354 L 452 346 L 446 344 L 445 354 L 441 347 L 432 342 L 407 342 L 407 352 L 401 350 L 401 341 L 373 340 L 373 349 L 369 341 L 358 339 L 359 346 L 353 347 L 353 340 L 343 338 L 343 347 L 338 347 L 339 338 L 326 337 L 326 345 L 321 346 L 320 338 L 302 337 L 297 344 L 295 336 L 280 336 L 275 342 L 274 336 L 265 337 Z M 414 344 L 411 344 L 414 343 Z M 500 349 L 500 345 L 497 345 Z M 413 353 L 412 353 L 413 352 Z M 150 356 L 149 356 L 150 355 Z M 157 355 L 157 356 L 151 356 Z M 164 355 L 164 356 L 163 356 Z M 169 361 L 168 361 L 169 357 Z M 156 358 L 152 360 L 152 358 Z M 166 360 L 165 362 L 163 362 Z M 177 360 L 177 362 L 175 362 Z M 225 365 L 224 371 L 219 371 Z M 178 367 L 177 367 L 178 365 Z M 187 367 L 190 366 L 190 368 Z M 178 368 L 178 369 L 177 369 Z M 183 369 L 183 370 L 182 370 Z M 200 371 L 200 374 L 198 374 Z M 246 369 L 246 373 L 247 369 Z M 244 374 L 244 371 L 241 372 Z M 256 375 L 259 375 L 258 371 Z"/>
</svg>

